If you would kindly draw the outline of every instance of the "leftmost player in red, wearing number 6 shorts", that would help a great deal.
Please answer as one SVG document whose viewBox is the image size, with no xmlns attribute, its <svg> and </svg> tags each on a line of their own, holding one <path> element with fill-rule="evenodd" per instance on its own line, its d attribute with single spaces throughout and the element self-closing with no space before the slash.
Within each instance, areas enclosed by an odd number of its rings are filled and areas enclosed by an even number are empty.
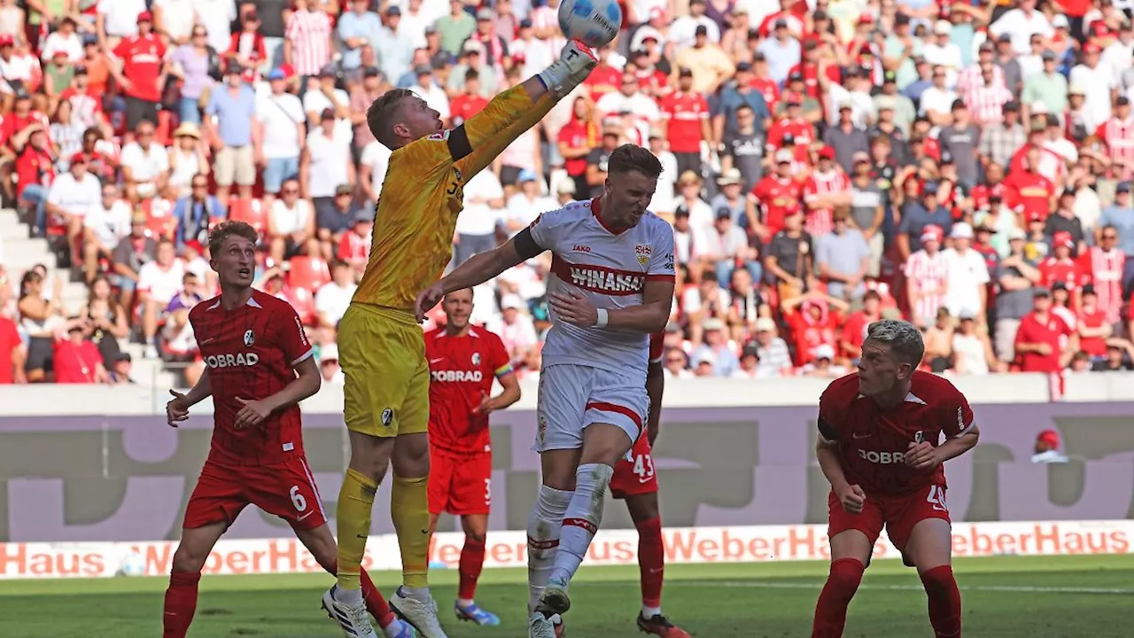
<svg viewBox="0 0 1134 638">
<path fill-rule="evenodd" d="M 205 372 L 188 393 L 170 391 L 174 398 L 166 404 L 166 418 L 176 428 L 189 408 L 212 396 L 214 425 L 174 553 L 163 638 L 184 638 L 189 630 L 201 568 L 248 504 L 286 520 L 315 561 L 336 571 L 338 548 L 301 431 L 299 402 L 319 392 L 319 368 L 295 310 L 252 288 L 257 241 L 256 230 L 243 221 L 221 224 L 210 234 L 210 266 L 221 294 L 189 312 Z M 370 577 L 362 578 L 366 607 L 386 636 L 412 638 L 413 630 L 395 619 Z"/>
</svg>

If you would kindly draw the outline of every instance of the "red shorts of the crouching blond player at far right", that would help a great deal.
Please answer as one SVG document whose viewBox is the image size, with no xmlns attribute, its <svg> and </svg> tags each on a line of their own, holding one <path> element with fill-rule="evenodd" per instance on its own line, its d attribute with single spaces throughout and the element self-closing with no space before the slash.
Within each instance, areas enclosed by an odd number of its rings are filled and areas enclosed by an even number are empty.
<svg viewBox="0 0 1134 638">
<path fill-rule="evenodd" d="M 940 485 L 930 485 L 902 496 L 868 494 L 866 503 L 863 505 L 862 512 L 857 514 L 850 514 L 844 510 L 843 503 L 838 501 L 832 490 L 827 496 L 827 507 L 830 512 L 827 526 L 828 537 L 833 537 L 848 529 L 857 529 L 865 534 L 866 539 L 873 544 L 878 540 L 878 535 L 882 532 L 885 526 L 890 543 L 894 543 L 899 552 L 905 551 L 909 532 L 919 522 L 925 519 L 949 521 L 945 488 Z"/>
</svg>

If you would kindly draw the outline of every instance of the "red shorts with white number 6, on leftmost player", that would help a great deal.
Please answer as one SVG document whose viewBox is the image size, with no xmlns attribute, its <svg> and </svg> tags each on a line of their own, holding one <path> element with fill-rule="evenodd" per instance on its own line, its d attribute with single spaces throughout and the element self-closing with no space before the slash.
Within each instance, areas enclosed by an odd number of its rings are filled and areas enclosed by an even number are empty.
<svg viewBox="0 0 1134 638">
<path fill-rule="evenodd" d="M 314 529 L 327 522 L 307 460 L 298 456 L 271 465 L 205 461 L 181 526 L 193 529 L 217 522 L 232 524 L 249 503 L 295 529 Z"/>
</svg>

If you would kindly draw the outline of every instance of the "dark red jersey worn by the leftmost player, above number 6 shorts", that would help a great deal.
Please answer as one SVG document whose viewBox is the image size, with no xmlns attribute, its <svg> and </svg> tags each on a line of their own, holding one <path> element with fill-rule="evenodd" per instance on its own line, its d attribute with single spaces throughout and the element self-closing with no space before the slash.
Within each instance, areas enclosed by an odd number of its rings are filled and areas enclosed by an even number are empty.
<svg viewBox="0 0 1134 638">
<path fill-rule="evenodd" d="M 225 310 L 220 297 L 189 311 L 213 396 L 210 461 L 236 465 L 281 463 L 303 456 L 299 406 L 277 410 L 259 426 L 235 429 L 247 401 L 268 398 L 295 380 L 295 367 L 314 351 L 288 302 L 260 291 Z"/>
</svg>

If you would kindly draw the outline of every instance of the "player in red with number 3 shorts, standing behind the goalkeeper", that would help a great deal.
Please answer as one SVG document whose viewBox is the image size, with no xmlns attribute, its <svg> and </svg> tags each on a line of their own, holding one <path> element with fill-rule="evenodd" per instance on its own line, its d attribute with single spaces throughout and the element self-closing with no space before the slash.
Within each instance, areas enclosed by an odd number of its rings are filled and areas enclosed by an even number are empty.
<svg viewBox="0 0 1134 638">
<path fill-rule="evenodd" d="M 484 536 L 492 503 L 492 440 L 489 414 L 519 401 L 519 380 L 503 342 L 473 327 L 473 291 L 445 295 L 446 324 L 425 333 L 429 359 L 429 511 L 430 531 L 442 512 L 460 517 L 460 586 L 454 612 L 458 620 L 496 627 L 500 619 L 473 602 L 484 564 Z M 503 392 L 491 396 L 492 379 Z"/>
</svg>

